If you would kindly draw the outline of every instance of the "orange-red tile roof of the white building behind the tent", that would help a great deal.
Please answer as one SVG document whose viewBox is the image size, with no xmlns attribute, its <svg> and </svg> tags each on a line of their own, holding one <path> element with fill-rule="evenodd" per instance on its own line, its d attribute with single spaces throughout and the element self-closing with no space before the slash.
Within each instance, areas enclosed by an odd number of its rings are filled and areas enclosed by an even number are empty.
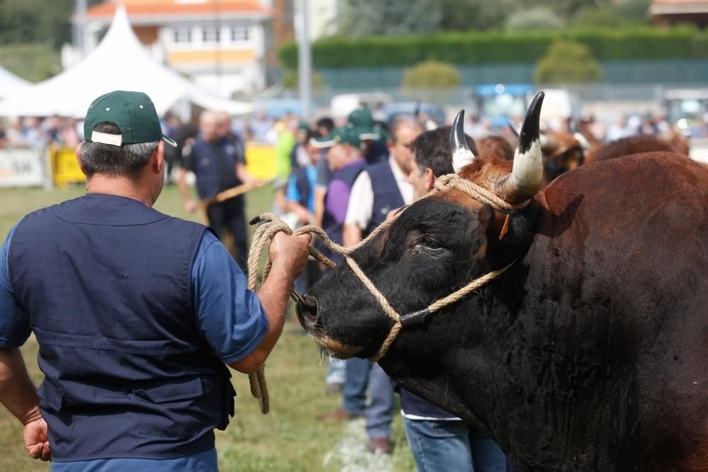
<svg viewBox="0 0 708 472">
<path fill-rule="evenodd" d="M 190 13 L 270 13 L 269 8 L 264 8 L 258 1 L 219 1 L 219 3 L 205 2 L 200 4 L 127 4 L 125 10 L 128 16 L 149 15 L 188 15 Z M 91 6 L 86 11 L 86 16 L 96 18 L 100 16 L 113 16 L 115 4 L 105 2 Z"/>
</svg>

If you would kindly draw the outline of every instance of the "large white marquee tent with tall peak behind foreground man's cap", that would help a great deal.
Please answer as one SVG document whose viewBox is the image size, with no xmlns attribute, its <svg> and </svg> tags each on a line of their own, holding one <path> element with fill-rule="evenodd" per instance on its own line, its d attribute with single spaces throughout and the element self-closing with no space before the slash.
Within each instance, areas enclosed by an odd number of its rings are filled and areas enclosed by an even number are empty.
<svg viewBox="0 0 708 472">
<path fill-rule="evenodd" d="M 118 6 L 108 32 L 91 54 L 51 79 L 6 96 L 0 101 L 0 116 L 81 118 L 95 98 L 113 90 L 147 93 L 159 115 L 185 100 L 232 115 L 253 111 L 250 103 L 225 100 L 203 91 L 156 62 L 133 33 L 125 8 Z"/>
</svg>

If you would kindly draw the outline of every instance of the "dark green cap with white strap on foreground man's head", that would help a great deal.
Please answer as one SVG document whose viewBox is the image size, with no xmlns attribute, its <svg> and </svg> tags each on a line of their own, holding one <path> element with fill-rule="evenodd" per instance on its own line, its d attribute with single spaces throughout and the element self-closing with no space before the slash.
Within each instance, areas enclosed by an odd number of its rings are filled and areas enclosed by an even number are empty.
<svg viewBox="0 0 708 472">
<path fill-rule="evenodd" d="M 111 122 L 120 134 L 93 131 L 100 122 Z M 93 100 L 84 120 L 86 141 L 122 146 L 156 142 L 162 139 L 170 146 L 177 143 L 162 134 L 160 119 L 150 97 L 142 92 L 113 91 Z"/>
</svg>

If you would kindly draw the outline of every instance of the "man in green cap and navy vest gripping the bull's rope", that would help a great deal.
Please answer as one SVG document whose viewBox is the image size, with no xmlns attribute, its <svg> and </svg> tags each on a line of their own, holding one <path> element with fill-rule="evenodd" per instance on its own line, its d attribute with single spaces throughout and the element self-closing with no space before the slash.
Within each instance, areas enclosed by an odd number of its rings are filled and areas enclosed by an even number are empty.
<svg viewBox="0 0 708 472">
<path fill-rule="evenodd" d="M 0 247 L 0 403 L 52 471 L 216 471 L 226 366 L 270 354 L 310 238 L 273 238 L 256 295 L 210 229 L 152 208 L 173 142 L 147 95 L 101 96 L 84 130 L 86 195 L 26 215 Z M 19 350 L 30 333 L 39 390 Z"/>
</svg>

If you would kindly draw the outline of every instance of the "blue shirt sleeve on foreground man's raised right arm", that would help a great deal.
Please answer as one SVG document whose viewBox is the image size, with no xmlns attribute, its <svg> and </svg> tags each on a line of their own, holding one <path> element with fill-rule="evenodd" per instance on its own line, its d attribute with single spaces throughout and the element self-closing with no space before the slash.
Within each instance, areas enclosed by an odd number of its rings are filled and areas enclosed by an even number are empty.
<svg viewBox="0 0 708 472">
<path fill-rule="evenodd" d="M 268 318 L 244 272 L 211 233 L 202 236 L 192 267 L 197 326 L 224 364 L 244 359 L 261 344 Z"/>
</svg>

